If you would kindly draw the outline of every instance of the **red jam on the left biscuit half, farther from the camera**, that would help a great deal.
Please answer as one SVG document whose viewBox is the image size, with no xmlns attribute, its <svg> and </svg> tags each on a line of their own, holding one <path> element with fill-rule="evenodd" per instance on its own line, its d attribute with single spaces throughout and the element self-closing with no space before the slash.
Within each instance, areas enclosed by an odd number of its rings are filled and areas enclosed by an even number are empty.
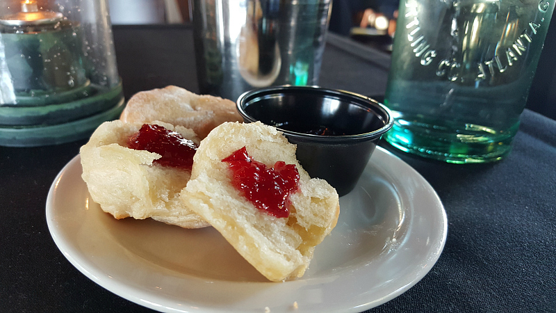
<svg viewBox="0 0 556 313">
<path fill-rule="evenodd" d="M 128 147 L 160 154 L 162 157 L 154 160 L 154 163 L 161 166 L 191 170 L 193 156 L 199 146 L 183 138 L 176 131 L 170 131 L 160 125 L 143 124 L 141 129 L 129 138 Z"/>
</svg>

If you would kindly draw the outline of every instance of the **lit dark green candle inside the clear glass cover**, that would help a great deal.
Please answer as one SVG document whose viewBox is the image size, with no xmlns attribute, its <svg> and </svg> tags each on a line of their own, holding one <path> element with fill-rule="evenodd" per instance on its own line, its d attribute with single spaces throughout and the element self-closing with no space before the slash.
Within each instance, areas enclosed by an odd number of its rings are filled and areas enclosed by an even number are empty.
<svg viewBox="0 0 556 313">
<path fill-rule="evenodd" d="M 32 0 L 21 3 L 21 12 L 0 17 L 1 74 L 13 81 L 15 104 L 58 102 L 57 94 L 87 83 L 78 26 Z"/>
</svg>

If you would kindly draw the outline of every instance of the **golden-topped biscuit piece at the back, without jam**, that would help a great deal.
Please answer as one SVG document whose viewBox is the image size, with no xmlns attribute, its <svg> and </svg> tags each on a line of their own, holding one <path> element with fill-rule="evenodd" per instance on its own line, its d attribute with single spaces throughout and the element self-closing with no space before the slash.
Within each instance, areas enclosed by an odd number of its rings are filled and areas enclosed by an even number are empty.
<svg viewBox="0 0 556 313">
<path fill-rule="evenodd" d="M 223 122 L 243 122 L 229 99 L 196 95 L 177 86 L 142 91 L 133 95 L 120 115 L 124 122 L 161 120 L 193 129 L 199 138 Z"/>
</svg>

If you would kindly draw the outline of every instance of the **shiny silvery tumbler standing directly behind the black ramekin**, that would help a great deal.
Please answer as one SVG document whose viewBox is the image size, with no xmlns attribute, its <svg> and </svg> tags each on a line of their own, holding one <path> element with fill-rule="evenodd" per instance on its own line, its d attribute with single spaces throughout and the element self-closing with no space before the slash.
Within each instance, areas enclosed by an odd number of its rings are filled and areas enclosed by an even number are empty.
<svg viewBox="0 0 556 313">
<path fill-rule="evenodd" d="M 332 0 L 194 0 L 201 93 L 318 84 Z"/>
</svg>

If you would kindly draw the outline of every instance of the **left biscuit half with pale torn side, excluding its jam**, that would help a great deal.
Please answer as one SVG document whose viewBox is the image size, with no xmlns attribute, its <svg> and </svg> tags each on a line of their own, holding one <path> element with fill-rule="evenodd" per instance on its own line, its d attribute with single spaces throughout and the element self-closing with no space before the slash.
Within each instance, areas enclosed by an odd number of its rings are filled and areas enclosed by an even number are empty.
<svg viewBox="0 0 556 313">
<path fill-rule="evenodd" d="M 152 122 L 199 143 L 195 132 Z M 206 227 L 203 218 L 179 201 L 190 172 L 153 164 L 160 154 L 127 147 L 142 123 L 104 122 L 80 150 L 83 180 L 92 200 L 115 218 L 153 218 L 185 228 Z"/>
</svg>

